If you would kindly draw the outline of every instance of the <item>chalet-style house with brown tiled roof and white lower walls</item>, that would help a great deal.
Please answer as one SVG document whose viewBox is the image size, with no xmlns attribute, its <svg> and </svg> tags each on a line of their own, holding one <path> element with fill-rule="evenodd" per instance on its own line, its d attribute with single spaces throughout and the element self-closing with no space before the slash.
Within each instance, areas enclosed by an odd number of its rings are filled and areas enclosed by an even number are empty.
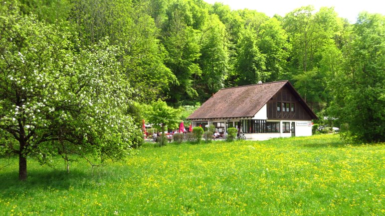
<svg viewBox="0 0 385 216">
<path fill-rule="evenodd" d="M 192 126 L 214 124 L 220 133 L 235 127 L 247 139 L 312 135 L 309 108 L 287 80 L 219 90 L 187 119 Z"/>
</svg>

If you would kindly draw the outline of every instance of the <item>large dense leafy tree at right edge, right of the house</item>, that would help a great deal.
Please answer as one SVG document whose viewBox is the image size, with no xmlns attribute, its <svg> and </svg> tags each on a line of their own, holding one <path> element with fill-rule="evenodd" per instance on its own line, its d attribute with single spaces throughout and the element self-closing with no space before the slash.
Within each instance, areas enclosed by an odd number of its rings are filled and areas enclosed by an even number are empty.
<svg viewBox="0 0 385 216">
<path fill-rule="evenodd" d="M 336 99 L 329 108 L 345 138 L 362 142 L 385 137 L 385 17 L 361 13 L 346 47 L 344 70 L 329 88 Z"/>
</svg>

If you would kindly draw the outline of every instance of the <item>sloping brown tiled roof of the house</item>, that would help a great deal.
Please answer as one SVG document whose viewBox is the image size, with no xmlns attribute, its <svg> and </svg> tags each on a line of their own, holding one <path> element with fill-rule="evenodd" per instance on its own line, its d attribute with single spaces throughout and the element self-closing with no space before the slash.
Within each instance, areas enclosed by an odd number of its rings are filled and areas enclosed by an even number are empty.
<svg viewBox="0 0 385 216">
<path fill-rule="evenodd" d="M 286 83 L 284 80 L 221 89 L 187 119 L 253 117 Z"/>
</svg>

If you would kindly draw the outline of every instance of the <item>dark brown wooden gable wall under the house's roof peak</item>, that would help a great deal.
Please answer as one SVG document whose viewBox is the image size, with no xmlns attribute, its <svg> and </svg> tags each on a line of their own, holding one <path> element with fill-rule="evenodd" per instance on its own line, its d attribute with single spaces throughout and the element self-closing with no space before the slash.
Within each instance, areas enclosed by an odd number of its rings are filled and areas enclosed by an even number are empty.
<svg viewBox="0 0 385 216">
<path fill-rule="evenodd" d="M 291 89 L 284 86 L 267 103 L 267 119 L 277 120 L 312 120 L 306 111 L 299 96 Z M 283 105 L 288 105 L 289 111 L 283 110 Z M 294 105 L 294 107 L 293 107 Z M 277 107 L 280 106 L 280 110 Z"/>
</svg>

